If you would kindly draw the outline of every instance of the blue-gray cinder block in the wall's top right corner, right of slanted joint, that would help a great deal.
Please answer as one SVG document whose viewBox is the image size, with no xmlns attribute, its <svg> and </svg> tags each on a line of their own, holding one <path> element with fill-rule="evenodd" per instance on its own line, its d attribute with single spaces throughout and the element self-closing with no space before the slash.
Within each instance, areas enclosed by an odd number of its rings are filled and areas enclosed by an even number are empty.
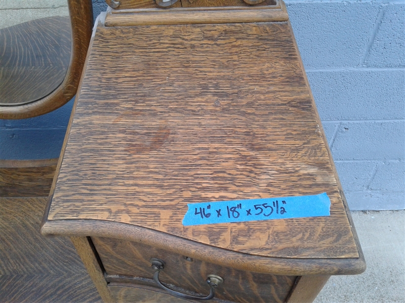
<svg viewBox="0 0 405 303">
<path fill-rule="evenodd" d="M 393 3 L 383 7 L 383 18 L 366 57 L 365 66 L 405 66 L 405 4 Z"/>
</svg>

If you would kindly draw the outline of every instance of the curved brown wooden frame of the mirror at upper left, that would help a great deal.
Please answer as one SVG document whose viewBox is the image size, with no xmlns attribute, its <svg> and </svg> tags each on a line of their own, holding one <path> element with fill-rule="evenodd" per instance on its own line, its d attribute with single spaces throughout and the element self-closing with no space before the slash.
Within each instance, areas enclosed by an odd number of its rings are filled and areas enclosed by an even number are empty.
<svg viewBox="0 0 405 303">
<path fill-rule="evenodd" d="M 66 104 L 77 91 L 92 36 L 91 0 L 68 0 L 72 26 L 72 50 L 69 68 L 62 84 L 45 98 L 26 105 L 0 107 L 0 119 L 25 119 L 52 112 Z"/>
</svg>

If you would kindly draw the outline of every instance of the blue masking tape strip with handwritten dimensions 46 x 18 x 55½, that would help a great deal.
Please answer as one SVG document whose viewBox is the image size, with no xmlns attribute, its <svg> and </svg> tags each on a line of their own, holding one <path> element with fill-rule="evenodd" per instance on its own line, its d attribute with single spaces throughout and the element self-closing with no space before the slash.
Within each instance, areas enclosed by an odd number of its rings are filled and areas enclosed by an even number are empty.
<svg viewBox="0 0 405 303">
<path fill-rule="evenodd" d="M 330 216 L 331 200 L 317 195 L 188 204 L 183 225 Z"/>
</svg>

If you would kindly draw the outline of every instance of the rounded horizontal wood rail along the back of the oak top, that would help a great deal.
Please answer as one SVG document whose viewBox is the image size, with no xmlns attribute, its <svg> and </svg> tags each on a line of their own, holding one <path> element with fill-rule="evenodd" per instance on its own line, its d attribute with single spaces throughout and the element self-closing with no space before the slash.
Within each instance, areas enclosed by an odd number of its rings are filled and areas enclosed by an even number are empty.
<svg viewBox="0 0 405 303">
<path fill-rule="evenodd" d="M 277 2 L 278 5 L 278 2 Z M 274 7 L 218 7 L 176 8 L 169 10 L 139 10 L 123 14 L 109 13 L 105 26 L 141 26 L 168 24 L 212 24 L 212 23 L 252 23 L 288 21 L 286 5 L 279 0 L 279 8 Z"/>
</svg>

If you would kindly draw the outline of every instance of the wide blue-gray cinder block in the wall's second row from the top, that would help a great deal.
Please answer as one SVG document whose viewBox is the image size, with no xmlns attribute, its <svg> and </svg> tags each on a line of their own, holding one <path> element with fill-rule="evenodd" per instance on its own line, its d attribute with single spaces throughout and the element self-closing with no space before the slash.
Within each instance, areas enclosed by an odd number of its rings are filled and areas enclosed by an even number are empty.
<svg viewBox="0 0 405 303">
<path fill-rule="evenodd" d="M 307 75 L 322 120 L 405 118 L 405 70 Z"/>
</svg>

